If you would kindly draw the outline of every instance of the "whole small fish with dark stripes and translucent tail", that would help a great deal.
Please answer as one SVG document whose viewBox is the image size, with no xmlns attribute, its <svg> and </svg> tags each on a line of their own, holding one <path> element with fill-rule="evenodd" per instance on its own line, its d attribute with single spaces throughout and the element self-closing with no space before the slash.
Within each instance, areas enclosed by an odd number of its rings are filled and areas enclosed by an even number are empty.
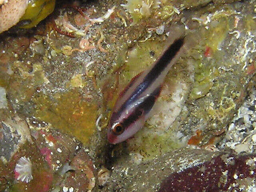
<svg viewBox="0 0 256 192">
<path fill-rule="evenodd" d="M 191 47 L 193 38 L 184 36 L 178 27 L 169 33 L 170 46 L 144 72 L 136 75 L 120 93 L 108 124 L 108 141 L 117 144 L 132 137 L 150 117 L 150 111 L 160 95 L 165 76 L 180 56 Z"/>
</svg>

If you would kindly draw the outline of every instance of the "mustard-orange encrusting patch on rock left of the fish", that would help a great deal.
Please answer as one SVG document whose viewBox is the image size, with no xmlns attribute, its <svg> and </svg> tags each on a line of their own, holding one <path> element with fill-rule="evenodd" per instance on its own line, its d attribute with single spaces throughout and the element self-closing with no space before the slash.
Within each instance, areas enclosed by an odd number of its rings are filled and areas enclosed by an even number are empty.
<svg viewBox="0 0 256 192">
<path fill-rule="evenodd" d="M 95 131 L 97 105 L 84 101 L 77 89 L 56 94 L 54 99 L 40 93 L 33 101 L 36 104 L 33 116 L 51 123 L 83 143 L 88 142 Z"/>
</svg>

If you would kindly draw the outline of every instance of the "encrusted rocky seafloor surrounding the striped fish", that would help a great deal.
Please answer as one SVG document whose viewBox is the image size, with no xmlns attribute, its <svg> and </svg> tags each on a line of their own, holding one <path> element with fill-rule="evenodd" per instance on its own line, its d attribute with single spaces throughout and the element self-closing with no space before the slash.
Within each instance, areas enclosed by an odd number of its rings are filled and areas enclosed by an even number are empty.
<svg viewBox="0 0 256 192">
<path fill-rule="evenodd" d="M 154 113 L 109 144 L 119 92 L 178 23 L 197 44 Z M 255 192 L 256 1 L 58 3 L 0 34 L 0 191 Z"/>
</svg>

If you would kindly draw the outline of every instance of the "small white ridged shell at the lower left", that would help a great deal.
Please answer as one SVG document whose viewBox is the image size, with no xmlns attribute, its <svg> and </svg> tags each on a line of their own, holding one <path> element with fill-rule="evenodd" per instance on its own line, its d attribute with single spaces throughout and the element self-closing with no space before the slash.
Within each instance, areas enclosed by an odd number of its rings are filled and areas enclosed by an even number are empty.
<svg viewBox="0 0 256 192">
<path fill-rule="evenodd" d="M 21 157 L 14 169 L 15 178 L 22 182 L 30 182 L 33 179 L 32 176 L 32 164 L 29 158 Z"/>
</svg>

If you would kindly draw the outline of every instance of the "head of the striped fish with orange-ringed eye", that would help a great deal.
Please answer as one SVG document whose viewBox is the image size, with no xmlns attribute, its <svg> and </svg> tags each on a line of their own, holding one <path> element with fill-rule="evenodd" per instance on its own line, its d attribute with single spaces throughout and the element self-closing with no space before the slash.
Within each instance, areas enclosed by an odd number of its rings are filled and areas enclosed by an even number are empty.
<svg viewBox="0 0 256 192">
<path fill-rule="evenodd" d="M 136 118 L 136 119 L 134 119 Z M 142 112 L 131 112 L 125 117 L 113 113 L 108 124 L 108 142 L 117 144 L 132 137 L 144 125 Z"/>
</svg>

